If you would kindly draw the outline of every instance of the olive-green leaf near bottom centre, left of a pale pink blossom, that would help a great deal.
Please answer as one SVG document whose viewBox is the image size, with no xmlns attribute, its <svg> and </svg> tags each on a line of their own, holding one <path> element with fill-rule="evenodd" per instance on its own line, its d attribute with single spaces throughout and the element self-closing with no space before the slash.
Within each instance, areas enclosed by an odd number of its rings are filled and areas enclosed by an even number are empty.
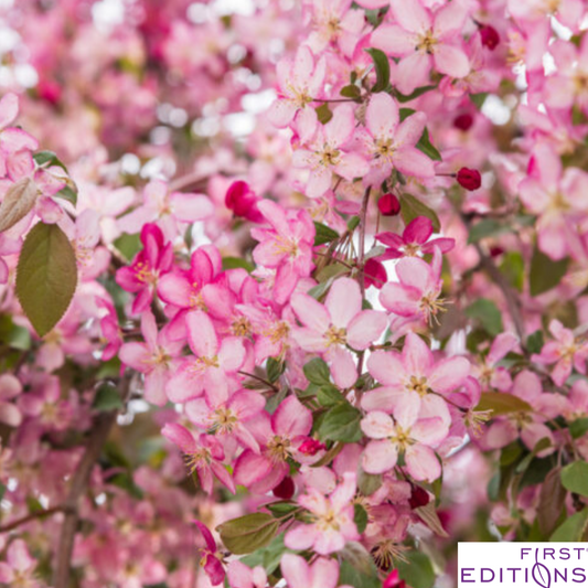
<svg viewBox="0 0 588 588">
<path fill-rule="evenodd" d="M 253 513 L 218 525 L 216 531 L 225 547 L 235 555 L 250 554 L 268 545 L 276 535 L 279 523 L 266 513 Z"/>
</svg>

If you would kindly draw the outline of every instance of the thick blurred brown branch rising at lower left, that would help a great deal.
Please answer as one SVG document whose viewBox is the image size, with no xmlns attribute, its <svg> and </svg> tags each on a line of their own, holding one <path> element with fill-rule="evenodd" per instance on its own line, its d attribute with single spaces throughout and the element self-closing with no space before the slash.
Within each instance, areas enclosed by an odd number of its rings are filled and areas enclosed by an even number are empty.
<svg viewBox="0 0 588 588">
<path fill-rule="evenodd" d="M 130 378 L 126 377 L 121 382 L 120 396 L 122 402 L 126 400 L 129 394 L 129 388 Z M 101 413 L 94 419 L 92 432 L 86 443 L 86 450 L 72 477 L 70 492 L 62 506 L 65 516 L 58 539 L 55 568 L 53 571 L 54 588 L 68 588 L 70 586 L 71 559 L 74 550 L 77 524 L 79 522 L 79 513 L 77 510 L 79 500 L 86 492 L 92 470 L 100 456 L 104 443 L 110 434 L 110 429 L 116 423 L 117 414 L 117 410 Z"/>
</svg>

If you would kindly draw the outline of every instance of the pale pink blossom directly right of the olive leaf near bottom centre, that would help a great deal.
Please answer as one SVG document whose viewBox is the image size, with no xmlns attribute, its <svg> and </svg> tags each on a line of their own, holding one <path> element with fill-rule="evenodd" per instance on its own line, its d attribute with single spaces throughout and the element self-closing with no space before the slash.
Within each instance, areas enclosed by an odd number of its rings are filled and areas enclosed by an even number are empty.
<svg viewBox="0 0 588 588">
<path fill-rule="evenodd" d="M 355 490 L 355 474 L 345 473 L 342 483 L 329 496 L 313 488 L 299 496 L 298 503 L 310 512 L 312 522 L 288 531 L 284 538 L 286 547 L 329 555 L 342 549 L 348 541 L 356 541 L 359 533 L 352 503 Z"/>
</svg>

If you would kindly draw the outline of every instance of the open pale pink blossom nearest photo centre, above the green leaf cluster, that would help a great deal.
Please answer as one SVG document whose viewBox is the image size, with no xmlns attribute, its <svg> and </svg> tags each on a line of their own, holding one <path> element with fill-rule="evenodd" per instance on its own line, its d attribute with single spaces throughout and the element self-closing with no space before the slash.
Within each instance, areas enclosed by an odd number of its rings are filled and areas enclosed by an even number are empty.
<svg viewBox="0 0 588 588">
<path fill-rule="evenodd" d="M 325 357 L 338 386 L 352 386 L 357 370 L 346 346 L 363 351 L 377 341 L 386 329 L 385 314 L 362 310 L 360 286 L 351 278 L 334 281 L 324 306 L 304 293 L 295 293 L 291 306 L 303 325 L 292 330 L 296 342 Z"/>
</svg>

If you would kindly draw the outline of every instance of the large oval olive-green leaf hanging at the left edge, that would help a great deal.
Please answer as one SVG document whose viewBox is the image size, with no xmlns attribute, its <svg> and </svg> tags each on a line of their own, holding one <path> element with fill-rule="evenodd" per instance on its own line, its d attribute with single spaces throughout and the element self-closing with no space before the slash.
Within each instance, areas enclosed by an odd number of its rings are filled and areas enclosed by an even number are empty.
<svg viewBox="0 0 588 588">
<path fill-rule="evenodd" d="M 65 314 L 77 286 L 74 248 L 57 225 L 36 224 L 26 235 L 17 267 L 17 296 L 39 336 Z"/>
</svg>

